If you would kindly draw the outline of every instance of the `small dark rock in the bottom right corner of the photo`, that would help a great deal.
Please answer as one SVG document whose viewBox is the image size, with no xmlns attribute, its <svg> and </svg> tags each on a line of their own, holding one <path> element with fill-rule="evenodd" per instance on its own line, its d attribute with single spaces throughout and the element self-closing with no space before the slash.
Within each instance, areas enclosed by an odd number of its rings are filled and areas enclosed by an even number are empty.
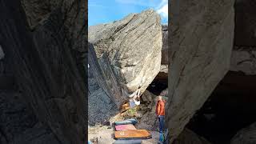
<svg viewBox="0 0 256 144">
<path fill-rule="evenodd" d="M 230 141 L 231 144 L 254 144 L 256 143 L 256 123 L 238 131 L 238 134 Z"/>
</svg>

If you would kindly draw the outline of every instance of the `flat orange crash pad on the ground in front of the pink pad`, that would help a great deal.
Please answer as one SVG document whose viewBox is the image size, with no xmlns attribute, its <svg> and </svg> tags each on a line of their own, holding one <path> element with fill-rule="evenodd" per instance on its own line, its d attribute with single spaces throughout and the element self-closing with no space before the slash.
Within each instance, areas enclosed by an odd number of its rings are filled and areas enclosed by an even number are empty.
<svg viewBox="0 0 256 144">
<path fill-rule="evenodd" d="M 151 134 L 147 130 L 125 130 L 114 131 L 115 139 L 147 139 L 151 138 Z"/>
</svg>

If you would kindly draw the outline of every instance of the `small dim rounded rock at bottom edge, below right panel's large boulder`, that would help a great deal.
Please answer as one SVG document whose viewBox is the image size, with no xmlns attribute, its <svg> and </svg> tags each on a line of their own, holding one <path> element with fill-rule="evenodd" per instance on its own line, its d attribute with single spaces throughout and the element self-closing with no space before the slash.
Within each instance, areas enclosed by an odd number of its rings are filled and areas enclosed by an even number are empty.
<svg viewBox="0 0 256 144">
<path fill-rule="evenodd" d="M 210 144 L 205 138 L 194 134 L 193 131 L 184 129 L 178 138 L 174 141 L 174 144 Z"/>
</svg>

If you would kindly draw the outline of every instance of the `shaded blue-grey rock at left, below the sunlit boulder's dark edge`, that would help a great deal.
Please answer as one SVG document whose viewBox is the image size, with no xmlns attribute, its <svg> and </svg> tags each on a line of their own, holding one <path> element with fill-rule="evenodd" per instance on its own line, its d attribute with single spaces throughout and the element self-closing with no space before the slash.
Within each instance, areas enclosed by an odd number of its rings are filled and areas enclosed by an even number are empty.
<svg viewBox="0 0 256 144">
<path fill-rule="evenodd" d="M 94 125 L 96 122 L 108 121 L 111 116 L 118 113 L 118 107 L 107 93 L 106 81 L 102 76 L 95 51 L 91 47 L 88 53 L 88 64 L 88 122 L 89 125 Z"/>
</svg>

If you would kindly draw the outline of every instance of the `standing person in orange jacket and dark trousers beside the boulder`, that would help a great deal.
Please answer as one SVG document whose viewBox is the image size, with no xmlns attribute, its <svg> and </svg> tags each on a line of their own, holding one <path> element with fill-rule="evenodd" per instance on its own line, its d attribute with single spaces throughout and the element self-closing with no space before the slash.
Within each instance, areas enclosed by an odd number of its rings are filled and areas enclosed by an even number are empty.
<svg viewBox="0 0 256 144">
<path fill-rule="evenodd" d="M 160 133 L 163 132 L 164 130 L 164 118 L 165 118 L 165 102 L 164 100 L 162 100 L 162 96 L 159 95 L 158 96 L 158 103 L 156 106 L 156 114 L 158 115 L 158 121 L 160 123 Z"/>
</svg>

